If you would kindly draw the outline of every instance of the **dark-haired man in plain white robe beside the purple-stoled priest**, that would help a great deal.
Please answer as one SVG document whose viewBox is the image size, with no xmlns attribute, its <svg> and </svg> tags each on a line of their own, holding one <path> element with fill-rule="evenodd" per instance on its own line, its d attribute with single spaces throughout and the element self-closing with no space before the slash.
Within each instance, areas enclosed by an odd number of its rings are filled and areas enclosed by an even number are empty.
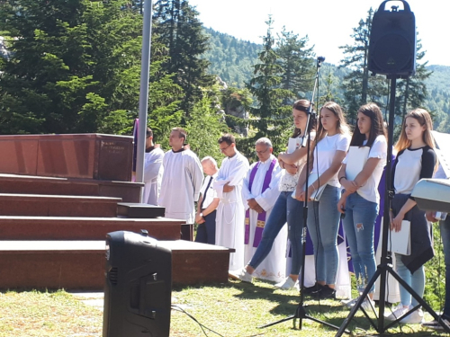
<svg viewBox="0 0 450 337">
<path fill-rule="evenodd" d="M 227 155 L 214 182 L 220 199 L 216 215 L 216 244 L 234 248 L 229 254 L 229 270 L 244 267 L 244 220 L 242 183 L 247 175 L 248 160 L 236 149 L 234 136 L 226 134 L 219 139 L 220 151 Z"/>
</svg>

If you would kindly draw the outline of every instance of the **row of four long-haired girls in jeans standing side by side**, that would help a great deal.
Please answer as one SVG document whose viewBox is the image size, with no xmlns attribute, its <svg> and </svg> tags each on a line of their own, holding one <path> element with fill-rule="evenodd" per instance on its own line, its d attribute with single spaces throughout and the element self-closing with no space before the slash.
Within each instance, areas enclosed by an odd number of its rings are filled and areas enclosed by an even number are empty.
<svg viewBox="0 0 450 337">
<path fill-rule="evenodd" d="M 278 156 L 281 167 L 298 179 L 296 185 L 281 191 L 275 203 L 275 208 L 286 210 L 287 216 L 284 221 L 287 220 L 293 244 L 291 274 L 285 282 L 292 285 L 301 269 L 303 202 L 308 202 L 307 227 L 314 248 L 316 284 L 304 288 L 303 291 L 313 297 L 335 298 L 338 273 L 336 243 L 341 217 L 360 292 L 373 277 L 376 269 L 374 223 L 380 208 L 378 185 L 386 165 L 387 134 L 382 111 L 375 103 L 371 102 L 359 108 L 357 126 L 351 135 L 338 103 L 326 102 L 320 108 L 317 128 L 313 120 L 310 123 L 311 164 L 310 167 L 306 167 L 304 159 L 307 155 L 305 146 L 307 142 L 303 142 L 303 139 L 308 137 L 305 129 L 309 109 L 310 102 L 307 100 L 293 104 L 295 124 L 293 137 L 301 137 L 300 143 L 303 146 L 291 154 L 283 153 Z M 394 146 L 396 156 L 392 165 L 394 197 L 390 205 L 390 229 L 400 231 L 402 220 L 410 220 L 411 228 L 411 253 L 395 254 L 396 270 L 420 297 L 423 297 L 425 288 L 424 263 L 434 256 L 434 251 L 425 211 L 418 208 L 410 194 L 416 182 L 422 178 L 431 178 L 437 168 L 431 129 L 432 121 L 428 111 L 423 109 L 410 111 L 402 122 L 401 135 Z M 363 169 L 353 180 L 347 178 L 350 169 L 347 168 L 347 163 L 353 163 L 356 158 L 352 158 L 352 155 L 359 153 L 348 151 L 349 146 L 369 148 Z M 309 187 L 304 189 L 307 173 L 310 173 L 310 182 Z M 325 187 L 320 199 L 311 199 L 311 196 L 323 186 Z M 288 197 L 293 191 L 294 199 Z M 290 217 L 290 214 L 294 217 Z M 269 217 L 264 229 L 265 232 L 272 233 L 269 240 L 275 240 L 284 221 Z M 274 226 L 279 229 L 274 230 L 272 228 Z M 268 254 L 269 251 L 270 246 L 265 253 Z M 230 276 L 248 280 L 252 278 L 251 274 L 256 268 L 257 263 L 249 262 L 242 270 L 230 270 Z M 374 307 L 373 297 L 374 287 L 370 289 L 368 297 L 363 302 L 365 308 Z M 352 306 L 354 303 L 355 300 L 347 302 L 347 305 Z M 395 320 L 414 306 L 418 306 L 417 300 L 401 287 L 401 303 L 394 307 L 392 314 L 386 318 Z M 419 308 L 402 322 L 420 323 L 422 318 L 423 313 Z"/>
</svg>

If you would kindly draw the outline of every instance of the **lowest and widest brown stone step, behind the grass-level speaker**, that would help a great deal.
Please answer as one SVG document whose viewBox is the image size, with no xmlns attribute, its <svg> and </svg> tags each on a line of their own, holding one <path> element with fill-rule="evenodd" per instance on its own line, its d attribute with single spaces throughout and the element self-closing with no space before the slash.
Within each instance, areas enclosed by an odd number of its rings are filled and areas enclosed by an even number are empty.
<svg viewBox="0 0 450 337">
<path fill-rule="evenodd" d="M 232 250 L 183 240 L 159 241 L 172 251 L 172 282 L 227 282 Z M 0 288 L 102 290 L 105 241 L 0 241 Z"/>
</svg>

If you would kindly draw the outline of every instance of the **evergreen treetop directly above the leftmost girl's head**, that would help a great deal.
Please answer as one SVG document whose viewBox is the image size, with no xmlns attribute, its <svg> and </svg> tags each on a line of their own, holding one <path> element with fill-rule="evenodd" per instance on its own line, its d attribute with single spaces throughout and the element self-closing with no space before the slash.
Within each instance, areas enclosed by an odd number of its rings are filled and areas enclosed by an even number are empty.
<svg viewBox="0 0 450 337">
<path fill-rule="evenodd" d="M 278 63 L 283 67 L 282 88 L 304 97 L 311 91 L 314 75 L 314 53 L 307 49 L 308 36 L 299 39 L 298 34 L 283 27 L 277 41 Z"/>
</svg>

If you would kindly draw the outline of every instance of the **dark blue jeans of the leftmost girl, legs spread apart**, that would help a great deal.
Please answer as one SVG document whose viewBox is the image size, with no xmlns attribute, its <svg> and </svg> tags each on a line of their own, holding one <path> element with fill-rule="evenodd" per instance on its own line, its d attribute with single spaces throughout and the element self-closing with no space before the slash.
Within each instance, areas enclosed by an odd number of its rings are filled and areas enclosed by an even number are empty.
<svg viewBox="0 0 450 337">
<path fill-rule="evenodd" d="M 296 275 L 302 267 L 302 223 L 303 202 L 293 199 L 292 191 L 282 191 L 275 202 L 274 208 L 264 226 L 261 242 L 257 246 L 257 252 L 253 254 L 248 265 L 254 269 L 266 259 L 272 249 L 276 235 L 280 233 L 287 221 L 289 240 L 291 240 L 293 260 L 291 262 L 291 274 Z"/>
</svg>

